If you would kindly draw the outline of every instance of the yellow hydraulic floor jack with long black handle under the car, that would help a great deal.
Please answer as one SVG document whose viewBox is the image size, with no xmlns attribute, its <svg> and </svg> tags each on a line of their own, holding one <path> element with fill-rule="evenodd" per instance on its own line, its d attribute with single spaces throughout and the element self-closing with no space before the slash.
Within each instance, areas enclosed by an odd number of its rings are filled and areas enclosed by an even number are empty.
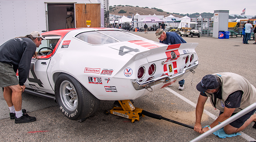
<svg viewBox="0 0 256 142">
<path fill-rule="evenodd" d="M 135 120 L 139 121 L 140 117 L 148 116 L 148 117 L 159 119 L 159 120 L 163 119 L 163 120 L 173 122 L 173 123 L 181 125 L 181 126 L 188 127 L 190 129 L 194 129 L 193 126 L 189 126 L 189 125 L 186 125 L 186 124 L 174 121 L 174 120 L 164 118 L 161 115 L 153 114 L 153 113 L 150 113 L 150 112 L 145 111 L 145 110 L 140 109 L 140 108 L 135 108 L 133 106 L 132 102 L 130 102 L 130 100 L 118 100 L 118 102 L 119 102 L 120 106 L 119 105 L 117 107 L 115 106 L 111 110 L 105 110 L 104 114 L 106 114 L 106 115 L 114 114 L 114 115 L 117 115 L 117 116 L 128 118 L 128 119 L 132 120 L 132 123 Z"/>
</svg>

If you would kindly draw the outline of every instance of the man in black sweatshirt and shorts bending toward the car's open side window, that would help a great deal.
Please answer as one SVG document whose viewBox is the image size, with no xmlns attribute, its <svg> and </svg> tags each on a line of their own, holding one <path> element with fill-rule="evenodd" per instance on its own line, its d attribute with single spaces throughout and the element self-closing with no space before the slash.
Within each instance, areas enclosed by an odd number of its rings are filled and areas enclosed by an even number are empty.
<svg viewBox="0 0 256 142">
<path fill-rule="evenodd" d="M 29 75 L 31 58 L 41 44 L 42 35 L 34 31 L 26 37 L 13 38 L 0 46 L 0 87 L 4 87 L 4 99 L 10 109 L 10 119 L 15 123 L 36 121 L 35 117 L 21 110 L 24 83 Z M 19 80 L 16 72 L 19 70 Z"/>
</svg>

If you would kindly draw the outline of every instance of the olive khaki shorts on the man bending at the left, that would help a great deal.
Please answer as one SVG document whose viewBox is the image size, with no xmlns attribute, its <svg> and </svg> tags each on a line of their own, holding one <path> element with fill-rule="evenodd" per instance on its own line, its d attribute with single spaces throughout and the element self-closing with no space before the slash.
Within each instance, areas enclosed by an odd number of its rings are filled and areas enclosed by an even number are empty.
<svg viewBox="0 0 256 142">
<path fill-rule="evenodd" d="M 13 66 L 0 62 L 0 87 L 18 85 L 19 80 Z"/>
</svg>

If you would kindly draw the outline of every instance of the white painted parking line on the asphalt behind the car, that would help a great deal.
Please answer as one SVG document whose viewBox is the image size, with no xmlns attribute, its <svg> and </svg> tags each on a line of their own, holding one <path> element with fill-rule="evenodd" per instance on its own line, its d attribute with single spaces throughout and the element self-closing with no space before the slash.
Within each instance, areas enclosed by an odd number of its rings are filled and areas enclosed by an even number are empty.
<svg viewBox="0 0 256 142">
<path fill-rule="evenodd" d="M 188 104 L 192 105 L 194 108 L 196 107 L 196 104 L 195 104 L 195 103 L 191 102 L 189 99 L 183 97 L 183 96 L 180 95 L 179 93 L 173 91 L 172 89 L 170 89 L 170 88 L 168 88 L 168 87 L 165 87 L 165 89 L 167 89 L 169 92 L 173 93 L 173 94 L 176 95 L 177 97 L 181 98 L 182 100 L 184 100 L 184 101 L 187 102 Z M 212 119 L 214 119 L 214 120 L 217 119 L 217 116 L 213 115 L 212 113 L 210 113 L 209 111 L 207 111 L 207 110 L 205 110 L 205 109 L 204 109 L 204 113 L 206 113 L 207 115 L 209 115 L 210 118 L 212 118 Z M 246 135 L 246 134 L 243 133 L 243 132 L 239 132 L 239 133 L 241 133 L 240 136 L 243 137 L 243 138 L 244 138 L 245 140 L 247 140 L 247 141 L 256 141 L 254 138 L 252 138 L 252 137 Z"/>
</svg>

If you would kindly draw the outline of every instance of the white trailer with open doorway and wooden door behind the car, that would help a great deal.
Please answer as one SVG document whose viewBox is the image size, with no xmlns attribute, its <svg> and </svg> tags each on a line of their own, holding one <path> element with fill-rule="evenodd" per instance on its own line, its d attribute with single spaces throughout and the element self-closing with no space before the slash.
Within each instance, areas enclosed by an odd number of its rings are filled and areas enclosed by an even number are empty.
<svg viewBox="0 0 256 142">
<path fill-rule="evenodd" d="M 104 27 L 109 0 L 0 0 L 0 45 L 32 31 L 66 28 L 72 17 L 74 28 Z M 104 13 L 105 17 L 104 17 Z M 105 18 L 105 20 L 104 20 Z M 105 23 L 107 27 L 108 23 Z M 68 27 L 69 28 L 69 27 Z"/>
</svg>

